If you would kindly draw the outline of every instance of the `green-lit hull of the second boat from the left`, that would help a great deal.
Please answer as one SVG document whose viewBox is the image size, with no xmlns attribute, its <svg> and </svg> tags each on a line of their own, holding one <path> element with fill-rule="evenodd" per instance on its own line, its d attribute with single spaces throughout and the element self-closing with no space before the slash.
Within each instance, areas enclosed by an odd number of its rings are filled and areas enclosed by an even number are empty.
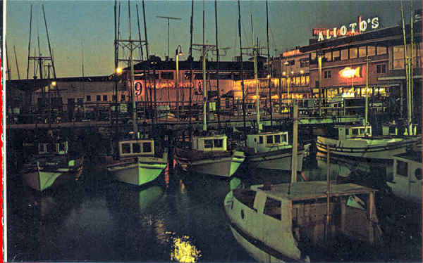
<svg viewBox="0 0 423 263">
<path fill-rule="evenodd" d="M 159 177 L 167 165 L 167 152 L 163 158 L 135 157 L 114 160 L 107 166 L 117 181 L 142 186 Z"/>
</svg>

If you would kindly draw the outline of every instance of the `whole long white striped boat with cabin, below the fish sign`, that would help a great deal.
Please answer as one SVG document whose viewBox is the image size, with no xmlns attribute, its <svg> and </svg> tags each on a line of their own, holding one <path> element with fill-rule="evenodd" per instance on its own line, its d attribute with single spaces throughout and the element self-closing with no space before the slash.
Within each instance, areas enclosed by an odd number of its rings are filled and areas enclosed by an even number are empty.
<svg viewBox="0 0 423 263">
<path fill-rule="evenodd" d="M 407 148 L 422 141 L 421 136 L 372 136 L 372 127 L 364 125 L 337 126 L 338 138 L 317 136 L 317 150 L 338 157 L 393 160 L 393 155 L 405 153 Z"/>
</svg>

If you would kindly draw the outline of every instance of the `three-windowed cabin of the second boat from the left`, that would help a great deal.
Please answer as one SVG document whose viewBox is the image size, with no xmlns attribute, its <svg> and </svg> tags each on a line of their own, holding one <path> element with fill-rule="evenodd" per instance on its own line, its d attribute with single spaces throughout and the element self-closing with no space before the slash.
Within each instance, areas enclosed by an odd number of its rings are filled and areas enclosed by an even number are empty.
<svg viewBox="0 0 423 263">
<path fill-rule="evenodd" d="M 135 157 L 139 155 L 154 155 L 154 140 L 139 139 L 119 141 L 119 157 Z"/>
</svg>

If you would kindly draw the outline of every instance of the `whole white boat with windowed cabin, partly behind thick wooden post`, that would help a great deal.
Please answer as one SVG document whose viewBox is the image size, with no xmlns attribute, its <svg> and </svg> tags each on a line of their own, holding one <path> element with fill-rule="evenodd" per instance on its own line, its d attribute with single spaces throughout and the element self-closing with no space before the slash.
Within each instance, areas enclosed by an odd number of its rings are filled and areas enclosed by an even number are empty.
<svg viewBox="0 0 423 263">
<path fill-rule="evenodd" d="M 302 171 L 302 161 L 310 144 L 298 149 L 297 170 Z M 254 168 L 290 171 L 292 168 L 293 146 L 288 143 L 287 131 L 247 134 L 245 158 L 247 165 Z"/>
</svg>

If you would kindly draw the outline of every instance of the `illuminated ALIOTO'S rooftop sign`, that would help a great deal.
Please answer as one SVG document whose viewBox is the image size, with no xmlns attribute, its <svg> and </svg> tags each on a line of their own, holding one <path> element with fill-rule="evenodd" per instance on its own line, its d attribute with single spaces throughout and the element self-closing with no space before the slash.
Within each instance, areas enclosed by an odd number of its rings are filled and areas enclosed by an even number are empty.
<svg viewBox="0 0 423 263">
<path fill-rule="evenodd" d="M 362 20 L 362 16 L 358 17 L 358 22 L 350 23 L 348 26 L 341 25 L 341 27 L 333 28 L 313 28 L 312 35 L 317 36 L 317 41 L 324 41 L 336 37 L 353 36 L 366 32 L 367 29 L 373 30 L 379 27 L 379 18 L 367 18 Z"/>
</svg>

